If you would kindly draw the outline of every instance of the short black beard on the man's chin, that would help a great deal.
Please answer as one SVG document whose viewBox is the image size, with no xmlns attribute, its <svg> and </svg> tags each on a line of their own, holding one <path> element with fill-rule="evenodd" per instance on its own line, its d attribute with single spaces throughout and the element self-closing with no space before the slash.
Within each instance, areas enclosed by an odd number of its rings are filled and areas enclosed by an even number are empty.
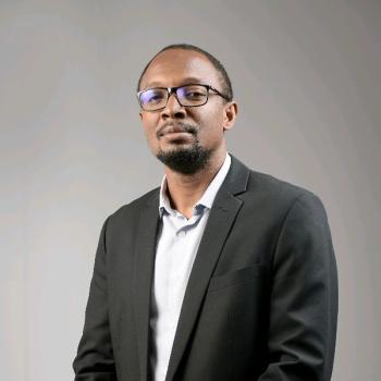
<svg viewBox="0 0 381 381">
<path fill-rule="evenodd" d="M 205 169 L 212 149 L 205 149 L 198 143 L 190 147 L 175 148 L 169 151 L 159 150 L 156 157 L 171 170 L 182 174 L 194 174 Z"/>
</svg>

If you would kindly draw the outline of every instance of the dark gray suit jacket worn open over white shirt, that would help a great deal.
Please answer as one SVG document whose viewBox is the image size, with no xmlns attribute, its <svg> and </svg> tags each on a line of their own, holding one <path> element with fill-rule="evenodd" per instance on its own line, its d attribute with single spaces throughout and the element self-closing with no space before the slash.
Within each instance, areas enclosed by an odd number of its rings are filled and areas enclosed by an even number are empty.
<svg viewBox="0 0 381 381">
<path fill-rule="evenodd" d="M 147 381 L 159 188 L 102 226 L 76 381 Z M 182 305 L 167 381 L 328 381 L 337 272 L 312 193 L 232 157 Z"/>
</svg>

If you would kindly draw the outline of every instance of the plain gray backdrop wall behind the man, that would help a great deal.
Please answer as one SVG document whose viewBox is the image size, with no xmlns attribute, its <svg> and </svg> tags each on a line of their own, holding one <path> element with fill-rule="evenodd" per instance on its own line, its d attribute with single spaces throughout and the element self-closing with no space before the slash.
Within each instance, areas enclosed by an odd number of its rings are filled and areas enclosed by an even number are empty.
<svg viewBox="0 0 381 381">
<path fill-rule="evenodd" d="M 333 380 L 380 379 L 380 1 L 0 4 L 2 380 L 72 379 L 101 224 L 162 176 L 135 86 L 172 42 L 231 74 L 230 151 L 323 200 L 340 274 Z"/>
</svg>

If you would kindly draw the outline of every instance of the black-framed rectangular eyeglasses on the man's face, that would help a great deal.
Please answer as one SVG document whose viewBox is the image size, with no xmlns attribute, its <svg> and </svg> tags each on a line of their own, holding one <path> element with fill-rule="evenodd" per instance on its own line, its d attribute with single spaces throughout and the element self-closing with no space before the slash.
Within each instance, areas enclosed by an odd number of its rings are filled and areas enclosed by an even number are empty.
<svg viewBox="0 0 381 381">
<path fill-rule="evenodd" d="M 183 107 L 198 107 L 206 105 L 209 99 L 209 93 L 230 100 L 228 96 L 220 93 L 210 85 L 189 84 L 177 87 L 155 87 L 137 93 L 137 99 L 143 110 L 158 111 L 165 108 L 168 99 L 173 93 Z"/>
</svg>

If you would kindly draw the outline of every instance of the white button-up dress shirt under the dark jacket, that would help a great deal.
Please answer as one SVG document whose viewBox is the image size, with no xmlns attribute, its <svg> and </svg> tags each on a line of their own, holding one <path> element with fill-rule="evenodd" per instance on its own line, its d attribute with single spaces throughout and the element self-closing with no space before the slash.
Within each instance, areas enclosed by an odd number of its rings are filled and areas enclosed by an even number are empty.
<svg viewBox="0 0 381 381">
<path fill-rule="evenodd" d="M 153 381 L 165 380 L 190 270 L 208 221 L 210 208 L 228 174 L 230 164 L 231 158 L 226 153 L 219 172 L 202 197 L 195 204 L 189 220 L 171 208 L 167 196 L 165 175 L 161 182 L 159 205 L 161 225 L 156 248 L 150 316 L 150 365 Z"/>
</svg>

